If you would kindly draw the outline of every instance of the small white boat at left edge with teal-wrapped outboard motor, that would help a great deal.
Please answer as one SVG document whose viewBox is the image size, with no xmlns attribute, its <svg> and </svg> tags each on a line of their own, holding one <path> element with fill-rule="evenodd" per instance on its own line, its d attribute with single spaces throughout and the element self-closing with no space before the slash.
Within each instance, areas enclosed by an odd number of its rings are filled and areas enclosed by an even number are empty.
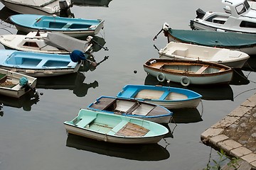
<svg viewBox="0 0 256 170">
<path fill-rule="evenodd" d="M 35 90 L 36 78 L 0 69 L 0 94 L 20 98 L 28 91 Z"/>
</svg>

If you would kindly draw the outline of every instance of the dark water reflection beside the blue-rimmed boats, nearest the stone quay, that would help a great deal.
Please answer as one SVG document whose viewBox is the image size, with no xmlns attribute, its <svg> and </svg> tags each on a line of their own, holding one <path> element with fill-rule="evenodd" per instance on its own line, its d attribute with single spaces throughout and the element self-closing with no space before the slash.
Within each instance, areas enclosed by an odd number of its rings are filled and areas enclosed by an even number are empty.
<svg viewBox="0 0 256 170">
<path fill-rule="evenodd" d="M 172 109 L 174 115 L 171 123 L 198 123 L 203 121 L 197 108 Z"/>
</svg>

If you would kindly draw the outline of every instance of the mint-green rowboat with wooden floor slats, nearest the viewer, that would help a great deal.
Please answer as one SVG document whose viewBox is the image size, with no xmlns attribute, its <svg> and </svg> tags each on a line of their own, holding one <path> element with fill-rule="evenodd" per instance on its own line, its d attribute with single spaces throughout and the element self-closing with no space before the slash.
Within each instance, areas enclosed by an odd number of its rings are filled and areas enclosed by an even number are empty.
<svg viewBox="0 0 256 170">
<path fill-rule="evenodd" d="M 129 116 L 81 109 L 71 121 L 65 121 L 68 133 L 112 143 L 157 143 L 169 130 L 163 125 Z"/>
</svg>

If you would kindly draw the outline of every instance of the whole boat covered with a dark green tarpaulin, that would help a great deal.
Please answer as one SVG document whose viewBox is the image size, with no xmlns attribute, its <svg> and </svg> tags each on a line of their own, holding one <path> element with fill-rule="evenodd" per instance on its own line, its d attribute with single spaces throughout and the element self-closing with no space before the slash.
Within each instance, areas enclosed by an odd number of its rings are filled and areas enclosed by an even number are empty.
<svg viewBox="0 0 256 170">
<path fill-rule="evenodd" d="M 228 48 L 245 52 L 248 55 L 256 55 L 255 34 L 223 33 L 210 30 L 175 30 L 169 28 L 168 23 L 164 23 L 162 30 L 164 30 L 168 42 L 175 41 L 208 47 Z M 154 39 L 156 39 L 156 36 Z"/>
</svg>

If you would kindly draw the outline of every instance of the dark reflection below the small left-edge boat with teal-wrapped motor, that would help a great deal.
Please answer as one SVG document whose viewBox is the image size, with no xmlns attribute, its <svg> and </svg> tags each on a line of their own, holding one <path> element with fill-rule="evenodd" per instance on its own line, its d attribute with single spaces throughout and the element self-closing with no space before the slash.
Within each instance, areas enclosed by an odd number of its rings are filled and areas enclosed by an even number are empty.
<svg viewBox="0 0 256 170">
<path fill-rule="evenodd" d="M 34 93 L 34 91 L 28 91 L 28 93 L 24 94 L 20 98 L 12 98 L 9 96 L 0 95 L 0 115 L 4 115 L 4 111 L 1 111 L 4 106 L 23 108 L 23 111 L 31 111 L 33 104 L 38 103 L 38 101 L 39 95 Z"/>
</svg>

